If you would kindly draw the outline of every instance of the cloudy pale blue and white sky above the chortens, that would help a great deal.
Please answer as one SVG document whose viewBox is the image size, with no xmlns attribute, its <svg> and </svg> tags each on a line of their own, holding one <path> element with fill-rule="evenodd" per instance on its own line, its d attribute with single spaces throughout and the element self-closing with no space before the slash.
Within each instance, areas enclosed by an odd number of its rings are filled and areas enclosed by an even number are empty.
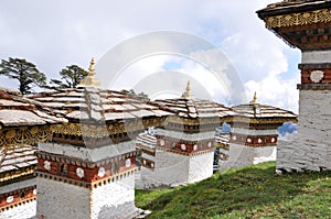
<svg viewBox="0 0 331 219">
<path fill-rule="evenodd" d="M 50 79 L 95 57 L 107 88 L 175 97 L 190 79 L 200 98 L 234 105 L 236 94 L 248 101 L 256 91 L 259 102 L 297 112 L 300 52 L 255 13 L 273 2 L 4 0 L 0 58 L 25 58 Z M 17 88 L 3 76 L 0 86 Z"/>
</svg>

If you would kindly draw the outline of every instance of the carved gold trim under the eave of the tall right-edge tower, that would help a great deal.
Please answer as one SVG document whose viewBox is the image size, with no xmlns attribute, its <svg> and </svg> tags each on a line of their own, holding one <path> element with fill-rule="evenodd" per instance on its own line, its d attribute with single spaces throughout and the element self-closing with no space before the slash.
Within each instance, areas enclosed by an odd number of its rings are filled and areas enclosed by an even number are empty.
<svg viewBox="0 0 331 219">
<path fill-rule="evenodd" d="M 321 9 L 316 11 L 290 13 L 265 19 L 267 29 L 306 25 L 312 23 L 328 23 L 331 21 L 331 10 Z"/>
</svg>

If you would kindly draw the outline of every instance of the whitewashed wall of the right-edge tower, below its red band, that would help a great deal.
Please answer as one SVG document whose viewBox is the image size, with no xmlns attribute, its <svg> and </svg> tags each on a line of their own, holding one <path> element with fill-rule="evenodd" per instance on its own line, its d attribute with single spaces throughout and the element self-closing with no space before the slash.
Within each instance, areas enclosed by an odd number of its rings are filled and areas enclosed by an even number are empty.
<svg viewBox="0 0 331 219">
<path fill-rule="evenodd" d="M 331 169 L 331 92 L 300 90 L 299 101 L 298 133 L 279 142 L 277 168 Z"/>
</svg>

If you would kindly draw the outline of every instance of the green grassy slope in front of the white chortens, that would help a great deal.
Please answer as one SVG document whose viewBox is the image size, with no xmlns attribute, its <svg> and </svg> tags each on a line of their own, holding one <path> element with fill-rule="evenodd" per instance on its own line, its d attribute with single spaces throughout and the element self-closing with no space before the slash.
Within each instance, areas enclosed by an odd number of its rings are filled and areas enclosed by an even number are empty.
<svg viewBox="0 0 331 219">
<path fill-rule="evenodd" d="M 331 218 L 331 172 L 275 174 L 275 162 L 180 188 L 136 190 L 148 218 Z"/>
</svg>

